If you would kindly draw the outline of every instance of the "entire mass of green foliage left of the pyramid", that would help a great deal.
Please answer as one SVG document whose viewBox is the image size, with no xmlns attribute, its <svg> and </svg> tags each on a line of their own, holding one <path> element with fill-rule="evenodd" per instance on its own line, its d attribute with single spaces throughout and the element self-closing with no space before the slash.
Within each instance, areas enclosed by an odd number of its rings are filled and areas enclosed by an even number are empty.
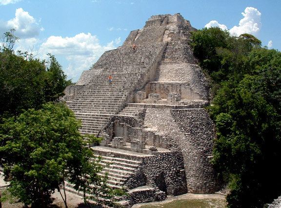
<svg viewBox="0 0 281 208">
<path fill-rule="evenodd" d="M 58 189 L 65 207 L 65 180 L 91 199 L 114 206 L 113 196 L 123 193 L 110 189 L 103 168 L 79 132 L 80 121 L 58 101 L 70 83 L 59 62 L 48 54 L 49 61 L 33 59 L 32 54 L 13 46 L 15 30 L 4 34 L 0 47 L 0 168 L 10 179 L 9 193 L 25 205 L 46 207 Z M 87 142 L 100 143 L 102 138 L 87 135 Z M 61 193 L 63 187 L 64 197 Z M 1 200 L 6 198 L 0 196 Z"/>
</svg>

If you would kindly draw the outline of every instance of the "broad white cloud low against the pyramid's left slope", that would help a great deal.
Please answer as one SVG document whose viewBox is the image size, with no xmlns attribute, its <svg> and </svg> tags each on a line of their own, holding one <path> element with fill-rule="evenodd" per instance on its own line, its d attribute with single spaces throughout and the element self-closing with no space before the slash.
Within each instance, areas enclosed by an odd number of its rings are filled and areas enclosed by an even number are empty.
<svg viewBox="0 0 281 208">
<path fill-rule="evenodd" d="M 46 58 L 47 53 L 65 57 L 68 66 L 64 72 L 68 78 L 76 81 L 82 71 L 90 69 L 105 51 L 116 48 L 115 44 L 119 43 L 120 38 L 116 38 L 102 46 L 99 39 L 90 33 L 80 33 L 66 38 L 51 36 L 41 44 L 39 52 L 41 58 Z"/>
</svg>

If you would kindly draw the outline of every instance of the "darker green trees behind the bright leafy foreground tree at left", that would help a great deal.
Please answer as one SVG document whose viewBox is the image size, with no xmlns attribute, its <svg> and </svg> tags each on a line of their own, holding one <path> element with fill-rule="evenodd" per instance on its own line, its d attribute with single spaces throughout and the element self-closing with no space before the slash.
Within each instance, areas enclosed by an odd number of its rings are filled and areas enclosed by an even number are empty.
<svg viewBox="0 0 281 208">
<path fill-rule="evenodd" d="M 46 61 L 29 58 L 26 53 L 16 55 L 13 46 L 17 37 L 13 30 L 4 34 L 0 48 L 0 114 L 19 114 L 29 108 L 39 109 L 45 102 L 55 101 L 70 80 L 66 80 L 60 64 L 49 54 Z"/>
</svg>

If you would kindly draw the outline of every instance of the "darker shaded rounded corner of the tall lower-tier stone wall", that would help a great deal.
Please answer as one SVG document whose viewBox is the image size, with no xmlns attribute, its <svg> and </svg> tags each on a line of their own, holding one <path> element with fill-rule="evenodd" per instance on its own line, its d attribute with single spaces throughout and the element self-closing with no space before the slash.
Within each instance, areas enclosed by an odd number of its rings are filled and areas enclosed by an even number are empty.
<svg viewBox="0 0 281 208">
<path fill-rule="evenodd" d="M 189 192 L 211 193 L 220 188 L 220 181 L 210 163 L 214 123 L 205 109 L 171 110 L 185 137 L 179 137 Z M 183 148 L 184 147 L 184 148 Z"/>
</svg>

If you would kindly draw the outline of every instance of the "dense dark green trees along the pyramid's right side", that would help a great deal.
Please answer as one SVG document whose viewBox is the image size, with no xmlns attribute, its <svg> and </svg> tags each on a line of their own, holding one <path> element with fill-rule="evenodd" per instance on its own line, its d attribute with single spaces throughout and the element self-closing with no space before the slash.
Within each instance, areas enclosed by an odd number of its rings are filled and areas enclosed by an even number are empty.
<svg viewBox="0 0 281 208">
<path fill-rule="evenodd" d="M 263 207 L 281 194 L 281 53 L 261 48 L 252 35 L 231 37 L 219 28 L 195 32 L 192 39 L 212 78 L 213 162 L 229 182 L 228 207 Z"/>
</svg>

